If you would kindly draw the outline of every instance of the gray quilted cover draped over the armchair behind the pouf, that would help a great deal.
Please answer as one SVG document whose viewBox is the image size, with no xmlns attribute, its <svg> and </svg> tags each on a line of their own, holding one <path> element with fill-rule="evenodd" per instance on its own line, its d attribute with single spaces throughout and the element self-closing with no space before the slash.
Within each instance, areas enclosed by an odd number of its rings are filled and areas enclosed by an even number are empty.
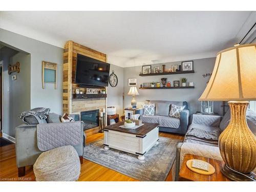
<svg viewBox="0 0 256 192">
<path fill-rule="evenodd" d="M 60 146 L 78 145 L 83 138 L 81 121 L 37 124 L 36 132 L 37 146 L 43 152 Z"/>
</svg>

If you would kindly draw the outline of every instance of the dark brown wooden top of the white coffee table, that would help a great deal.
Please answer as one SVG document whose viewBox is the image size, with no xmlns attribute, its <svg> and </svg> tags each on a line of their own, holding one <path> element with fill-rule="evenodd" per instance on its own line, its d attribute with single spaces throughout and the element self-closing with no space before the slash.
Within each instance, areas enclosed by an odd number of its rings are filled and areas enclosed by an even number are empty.
<svg viewBox="0 0 256 192">
<path fill-rule="evenodd" d="M 133 134 L 133 135 L 139 135 L 139 136 L 144 136 L 147 133 L 151 132 L 152 130 L 154 130 L 157 126 L 159 126 L 158 123 L 144 123 L 144 125 L 138 127 L 137 129 L 125 129 L 125 128 L 121 128 L 119 127 L 120 125 L 123 125 L 124 121 L 109 125 L 109 126 L 105 126 L 103 128 L 104 130 L 112 130 L 112 131 L 117 131 L 117 132 L 121 132 L 121 133 L 128 133 L 128 134 Z"/>
</svg>

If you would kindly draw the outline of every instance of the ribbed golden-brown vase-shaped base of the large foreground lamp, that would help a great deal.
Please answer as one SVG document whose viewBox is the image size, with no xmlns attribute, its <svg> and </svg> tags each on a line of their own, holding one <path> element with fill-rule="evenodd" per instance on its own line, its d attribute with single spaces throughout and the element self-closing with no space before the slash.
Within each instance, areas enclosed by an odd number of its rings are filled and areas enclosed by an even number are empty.
<svg viewBox="0 0 256 192">
<path fill-rule="evenodd" d="M 220 154 L 225 162 L 222 173 L 233 181 L 250 180 L 246 176 L 253 178 L 251 172 L 256 167 L 256 137 L 250 131 L 245 116 L 248 103 L 228 102 L 230 122 L 219 137 Z"/>
</svg>

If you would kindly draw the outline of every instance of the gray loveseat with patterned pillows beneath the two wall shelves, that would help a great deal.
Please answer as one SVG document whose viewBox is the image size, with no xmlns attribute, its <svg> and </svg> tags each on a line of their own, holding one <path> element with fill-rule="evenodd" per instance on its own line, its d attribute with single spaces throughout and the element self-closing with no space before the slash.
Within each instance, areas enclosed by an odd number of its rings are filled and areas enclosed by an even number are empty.
<svg viewBox="0 0 256 192">
<path fill-rule="evenodd" d="M 187 132 L 189 110 L 188 110 L 186 101 L 146 100 L 144 103 L 145 104 L 155 103 L 156 105 L 158 103 L 165 103 L 167 106 L 169 106 L 169 110 L 172 104 L 185 106 L 185 109 L 180 114 L 180 118 L 169 117 L 168 114 L 166 114 L 165 116 L 143 115 L 143 109 L 140 109 L 139 114 L 142 122 L 159 123 L 159 131 L 177 133 L 177 134 L 183 134 L 183 135 Z M 156 111 L 156 114 L 157 114 L 157 111 Z"/>
</svg>

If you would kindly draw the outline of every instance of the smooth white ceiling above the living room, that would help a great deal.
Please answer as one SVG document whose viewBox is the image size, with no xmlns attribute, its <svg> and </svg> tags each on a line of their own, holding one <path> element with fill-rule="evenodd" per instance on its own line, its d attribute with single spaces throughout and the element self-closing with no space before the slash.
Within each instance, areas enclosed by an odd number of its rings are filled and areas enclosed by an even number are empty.
<svg viewBox="0 0 256 192">
<path fill-rule="evenodd" d="M 131 67 L 214 57 L 240 41 L 249 11 L 4 11 L 0 28 L 63 48 L 67 40 Z"/>
</svg>

